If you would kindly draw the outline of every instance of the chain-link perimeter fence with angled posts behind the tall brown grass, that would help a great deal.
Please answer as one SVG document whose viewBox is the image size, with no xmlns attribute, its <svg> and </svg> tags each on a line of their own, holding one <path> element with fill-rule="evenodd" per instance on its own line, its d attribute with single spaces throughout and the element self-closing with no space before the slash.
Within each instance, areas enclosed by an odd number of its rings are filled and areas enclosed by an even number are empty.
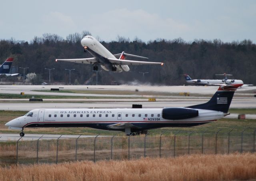
<svg viewBox="0 0 256 181">
<path fill-rule="evenodd" d="M 93 136 L 37 140 L 0 138 L 0 166 L 15 163 L 60 163 L 76 160 L 118 160 L 176 157 L 185 154 L 255 152 L 256 129 L 242 132 L 163 132 L 140 136 Z"/>
</svg>

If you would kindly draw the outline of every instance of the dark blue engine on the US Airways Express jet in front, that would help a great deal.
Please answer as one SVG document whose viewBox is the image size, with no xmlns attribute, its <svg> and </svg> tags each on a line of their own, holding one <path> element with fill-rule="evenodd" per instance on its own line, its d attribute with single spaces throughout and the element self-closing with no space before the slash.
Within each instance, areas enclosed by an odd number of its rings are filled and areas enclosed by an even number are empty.
<svg viewBox="0 0 256 181">
<path fill-rule="evenodd" d="M 198 116 L 198 110 L 191 108 L 163 108 L 162 117 L 167 120 L 182 120 Z"/>
</svg>

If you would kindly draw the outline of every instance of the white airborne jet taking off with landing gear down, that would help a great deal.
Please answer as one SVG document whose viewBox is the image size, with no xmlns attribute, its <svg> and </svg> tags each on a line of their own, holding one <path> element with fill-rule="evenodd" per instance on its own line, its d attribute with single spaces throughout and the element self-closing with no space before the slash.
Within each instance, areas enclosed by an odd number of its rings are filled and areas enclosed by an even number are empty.
<svg viewBox="0 0 256 181">
<path fill-rule="evenodd" d="M 147 61 L 133 61 L 133 60 L 125 60 L 126 57 L 137 57 L 142 59 L 148 59 L 147 57 L 141 57 L 138 55 L 131 55 L 122 53 L 113 55 L 108 51 L 96 38 L 87 35 L 81 40 L 81 44 L 84 47 L 84 52 L 89 52 L 93 57 L 92 58 L 84 58 L 84 59 L 56 59 L 56 61 L 68 61 L 75 63 L 86 63 L 93 65 L 93 70 L 98 70 L 98 65 L 102 67 L 102 69 L 109 71 L 128 72 L 130 68 L 128 65 L 164 65 L 162 62 L 147 62 Z"/>
</svg>

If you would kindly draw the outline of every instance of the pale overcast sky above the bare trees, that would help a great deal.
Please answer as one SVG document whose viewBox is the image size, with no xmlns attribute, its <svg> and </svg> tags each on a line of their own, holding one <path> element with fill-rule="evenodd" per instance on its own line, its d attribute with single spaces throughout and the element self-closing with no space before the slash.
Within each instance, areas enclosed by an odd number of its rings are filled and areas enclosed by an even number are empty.
<svg viewBox="0 0 256 181">
<path fill-rule="evenodd" d="M 3 0 L 0 6 L 0 39 L 31 41 L 43 33 L 66 39 L 86 30 L 104 41 L 119 35 L 256 43 L 256 0 Z"/>
</svg>

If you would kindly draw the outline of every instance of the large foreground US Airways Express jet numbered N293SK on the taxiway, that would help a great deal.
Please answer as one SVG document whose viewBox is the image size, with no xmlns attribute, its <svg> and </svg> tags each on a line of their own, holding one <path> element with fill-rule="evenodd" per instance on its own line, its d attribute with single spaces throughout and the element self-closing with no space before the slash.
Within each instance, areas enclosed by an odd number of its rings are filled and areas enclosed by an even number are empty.
<svg viewBox="0 0 256 181">
<path fill-rule="evenodd" d="M 241 84 L 221 85 L 212 98 L 188 107 L 166 108 L 97 108 L 34 109 L 5 126 L 20 129 L 39 127 L 89 127 L 123 131 L 127 135 L 163 127 L 186 127 L 206 124 L 228 115 L 234 91 Z"/>
</svg>

